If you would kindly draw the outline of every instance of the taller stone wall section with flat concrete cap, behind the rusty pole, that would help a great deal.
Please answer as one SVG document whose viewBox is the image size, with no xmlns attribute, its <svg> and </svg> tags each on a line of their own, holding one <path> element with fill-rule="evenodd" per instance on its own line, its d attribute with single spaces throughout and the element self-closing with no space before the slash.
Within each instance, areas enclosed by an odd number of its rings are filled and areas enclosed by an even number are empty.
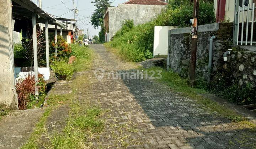
<svg viewBox="0 0 256 149">
<path fill-rule="evenodd" d="M 173 29 L 169 32 L 169 67 L 182 77 L 188 77 L 190 72 L 191 35 L 190 28 Z M 219 72 L 223 65 L 223 53 L 233 45 L 233 23 L 214 23 L 198 27 L 197 43 L 197 76 L 207 78 L 209 38 L 215 35 L 212 73 Z"/>
</svg>

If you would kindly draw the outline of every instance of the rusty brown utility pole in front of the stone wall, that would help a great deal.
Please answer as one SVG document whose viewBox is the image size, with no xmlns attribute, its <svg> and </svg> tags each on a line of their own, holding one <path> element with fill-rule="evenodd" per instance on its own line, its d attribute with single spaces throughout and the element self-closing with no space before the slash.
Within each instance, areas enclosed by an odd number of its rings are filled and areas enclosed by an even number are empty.
<svg viewBox="0 0 256 149">
<path fill-rule="evenodd" d="M 191 61 L 190 61 L 190 85 L 196 85 L 196 53 L 197 53 L 197 32 L 198 32 L 198 13 L 199 0 L 194 0 L 194 14 L 193 14 L 193 34 L 192 34 L 192 48 L 191 48 Z"/>
</svg>

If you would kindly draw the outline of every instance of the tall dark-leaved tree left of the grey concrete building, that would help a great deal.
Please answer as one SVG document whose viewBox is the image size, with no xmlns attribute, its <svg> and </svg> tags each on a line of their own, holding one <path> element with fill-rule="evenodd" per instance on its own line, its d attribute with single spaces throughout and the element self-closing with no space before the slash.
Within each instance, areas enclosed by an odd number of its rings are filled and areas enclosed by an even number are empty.
<svg viewBox="0 0 256 149">
<path fill-rule="evenodd" d="M 95 0 L 95 1 L 92 1 L 91 3 L 94 3 L 94 6 L 96 7 L 96 9 L 95 9 L 95 12 L 92 13 L 90 23 L 96 29 L 102 26 L 103 16 L 107 10 L 107 7 L 110 7 L 110 4 L 112 2 L 109 2 L 108 0 Z"/>
</svg>

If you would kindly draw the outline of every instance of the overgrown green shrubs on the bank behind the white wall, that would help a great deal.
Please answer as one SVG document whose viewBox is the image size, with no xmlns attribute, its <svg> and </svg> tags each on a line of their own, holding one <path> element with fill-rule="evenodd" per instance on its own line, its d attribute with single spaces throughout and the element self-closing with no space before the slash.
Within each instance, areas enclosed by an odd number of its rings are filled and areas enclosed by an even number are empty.
<svg viewBox="0 0 256 149">
<path fill-rule="evenodd" d="M 206 0 L 211 1 L 211 0 Z M 193 17 L 193 3 L 177 1 L 167 6 L 165 11 L 152 21 L 133 27 L 131 20 L 125 20 L 122 28 L 116 33 L 109 44 L 118 50 L 119 54 L 128 61 L 139 62 L 153 57 L 154 26 L 190 26 Z M 200 1 L 198 24 L 215 22 L 213 2 Z"/>
</svg>

